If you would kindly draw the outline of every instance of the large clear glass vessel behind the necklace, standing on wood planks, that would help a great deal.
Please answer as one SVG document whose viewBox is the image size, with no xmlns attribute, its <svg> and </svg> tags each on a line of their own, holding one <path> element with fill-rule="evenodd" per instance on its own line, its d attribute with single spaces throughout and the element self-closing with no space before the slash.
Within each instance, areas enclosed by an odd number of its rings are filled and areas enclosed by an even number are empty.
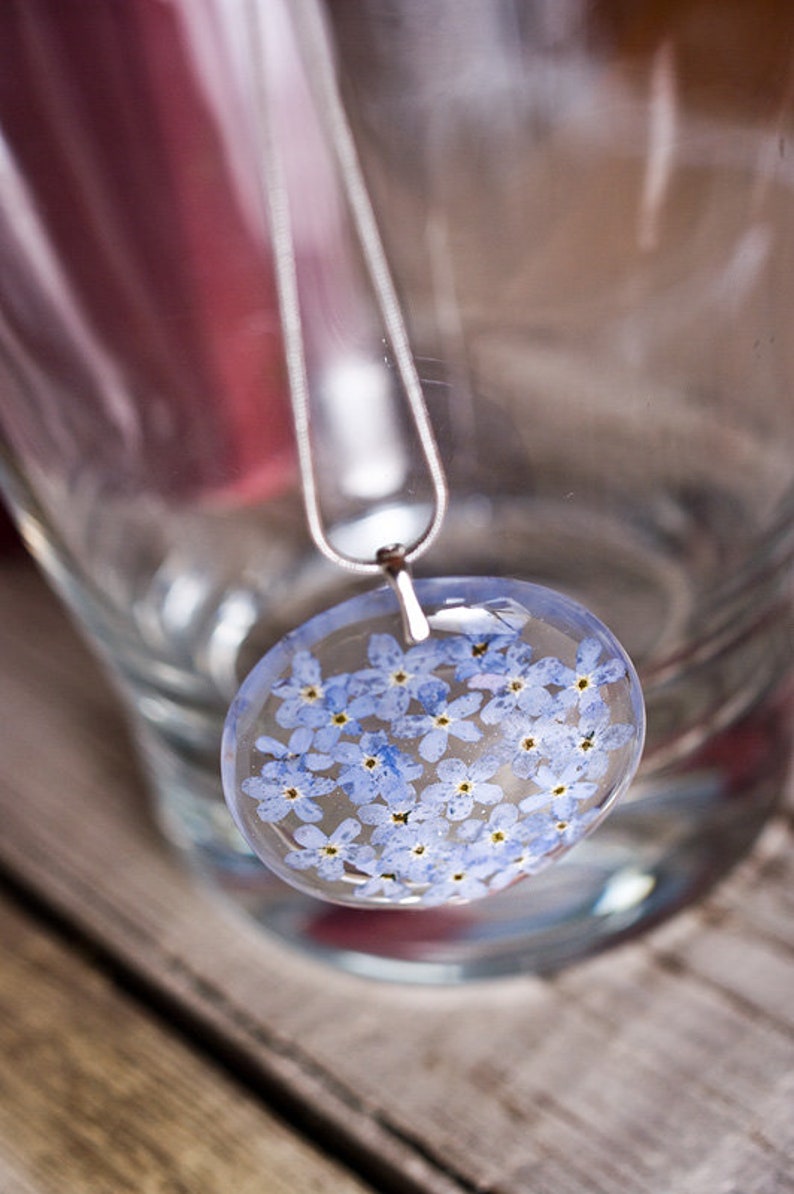
<svg viewBox="0 0 794 1194">
<path fill-rule="evenodd" d="M 707 890 L 790 758 L 794 12 L 26 0 L 0 31 L 2 485 L 115 678 L 166 836 L 266 931 L 416 981 L 549 970 Z M 304 525 L 263 78 L 333 533 L 355 547 L 424 517 L 326 75 L 451 488 L 418 573 L 574 597 L 648 709 L 598 832 L 454 909 L 298 894 L 221 796 L 242 677 L 361 589 Z"/>
</svg>

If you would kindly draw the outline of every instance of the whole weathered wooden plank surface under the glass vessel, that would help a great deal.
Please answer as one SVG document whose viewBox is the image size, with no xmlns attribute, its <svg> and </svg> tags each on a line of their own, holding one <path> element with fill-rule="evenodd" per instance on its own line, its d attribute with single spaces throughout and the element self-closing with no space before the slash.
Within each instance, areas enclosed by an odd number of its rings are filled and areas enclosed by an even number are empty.
<svg viewBox="0 0 794 1194">
<path fill-rule="evenodd" d="M 789 812 L 697 909 L 554 979 L 380 985 L 180 869 L 24 560 L 0 660 L 2 1194 L 794 1192 Z"/>
</svg>

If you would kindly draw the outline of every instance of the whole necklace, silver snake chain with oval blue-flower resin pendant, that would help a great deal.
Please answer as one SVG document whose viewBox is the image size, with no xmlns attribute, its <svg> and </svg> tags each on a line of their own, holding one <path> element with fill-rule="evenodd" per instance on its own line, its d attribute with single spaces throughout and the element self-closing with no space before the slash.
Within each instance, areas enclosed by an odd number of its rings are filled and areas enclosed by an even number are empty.
<svg viewBox="0 0 794 1194">
<path fill-rule="evenodd" d="M 260 33 L 252 30 L 254 44 Z M 307 527 L 328 560 L 386 576 L 390 587 L 319 614 L 260 660 L 227 718 L 223 787 L 251 848 L 295 887 L 357 906 L 464 903 L 535 874 L 596 827 L 636 770 L 642 696 L 610 632 L 564 596 L 503 578 L 411 580 L 410 565 L 441 531 L 448 485 L 322 44 L 314 76 L 380 316 L 376 392 L 402 394 L 432 506 L 413 542 L 374 558 L 347 555 L 326 534 L 314 461 L 324 420 L 313 412 L 330 399 L 313 382 L 340 361 L 350 375 L 362 346 L 334 339 L 319 353 L 314 345 L 309 376 L 288 173 L 265 104 L 263 181 Z M 364 365 L 363 383 L 373 384 L 374 361 Z M 371 436 L 362 454 L 371 463 Z M 386 499 L 381 515 L 414 500 Z"/>
</svg>

